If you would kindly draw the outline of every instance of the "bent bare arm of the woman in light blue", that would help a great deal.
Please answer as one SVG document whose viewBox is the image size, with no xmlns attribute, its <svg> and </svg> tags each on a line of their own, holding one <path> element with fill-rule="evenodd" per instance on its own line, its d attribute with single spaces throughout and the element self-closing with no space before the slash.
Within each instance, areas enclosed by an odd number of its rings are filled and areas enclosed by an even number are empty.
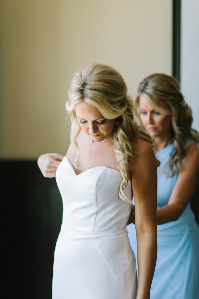
<svg viewBox="0 0 199 299">
<path fill-rule="evenodd" d="M 178 179 L 166 206 L 157 210 L 157 224 L 176 221 L 188 205 L 199 170 L 199 149 L 191 144 L 181 161 Z"/>
</svg>

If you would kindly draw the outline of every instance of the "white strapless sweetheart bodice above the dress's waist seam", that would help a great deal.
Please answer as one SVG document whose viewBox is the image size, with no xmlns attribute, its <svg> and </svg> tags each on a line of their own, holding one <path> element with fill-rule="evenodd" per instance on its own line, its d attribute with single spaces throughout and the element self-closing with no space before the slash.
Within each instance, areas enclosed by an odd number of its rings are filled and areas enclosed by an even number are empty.
<svg viewBox="0 0 199 299">
<path fill-rule="evenodd" d="M 76 175 L 69 159 L 64 157 L 56 172 L 63 200 L 63 223 L 90 233 L 126 229 L 131 204 L 119 197 L 121 180 L 121 173 L 107 166 Z M 124 192 L 132 199 L 130 181 Z"/>
</svg>

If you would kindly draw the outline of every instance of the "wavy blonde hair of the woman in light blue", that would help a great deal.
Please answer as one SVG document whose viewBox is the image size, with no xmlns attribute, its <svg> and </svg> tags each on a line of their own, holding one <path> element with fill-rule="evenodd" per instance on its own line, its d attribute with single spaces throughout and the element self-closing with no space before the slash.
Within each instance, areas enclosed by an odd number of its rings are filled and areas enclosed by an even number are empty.
<svg viewBox="0 0 199 299">
<path fill-rule="evenodd" d="M 152 74 L 146 77 L 138 87 L 135 109 L 140 119 L 139 98 L 143 94 L 152 106 L 162 114 L 171 115 L 172 131 L 170 143 L 174 144 L 174 152 L 169 161 L 171 176 L 179 171 L 178 162 L 183 158 L 189 139 L 199 141 L 198 131 L 192 129 L 192 110 L 184 100 L 178 81 L 166 74 Z M 161 101 L 161 102 L 160 102 Z M 161 106 L 166 105 L 166 109 Z M 141 120 L 140 120 L 141 121 Z"/>
</svg>

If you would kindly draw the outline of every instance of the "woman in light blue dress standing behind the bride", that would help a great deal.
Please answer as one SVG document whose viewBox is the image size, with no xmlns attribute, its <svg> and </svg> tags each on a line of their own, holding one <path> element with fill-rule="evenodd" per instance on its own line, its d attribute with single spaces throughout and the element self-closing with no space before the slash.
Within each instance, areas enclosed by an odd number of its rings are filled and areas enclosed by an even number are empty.
<svg viewBox="0 0 199 299">
<path fill-rule="evenodd" d="M 199 168 L 199 137 L 191 127 L 192 111 L 177 80 L 165 74 L 152 74 L 140 83 L 135 107 L 142 125 L 155 139 L 155 155 L 161 162 L 158 257 L 151 298 L 195 299 L 199 295 L 199 229 L 190 199 Z M 135 225 L 128 225 L 127 230 L 137 257 L 135 227 L 136 217 Z"/>
</svg>

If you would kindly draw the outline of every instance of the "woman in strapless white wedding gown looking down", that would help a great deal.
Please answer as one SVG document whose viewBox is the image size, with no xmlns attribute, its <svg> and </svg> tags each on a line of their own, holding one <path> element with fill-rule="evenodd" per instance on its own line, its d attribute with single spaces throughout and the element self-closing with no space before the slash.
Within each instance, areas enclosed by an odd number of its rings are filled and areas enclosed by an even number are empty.
<svg viewBox="0 0 199 299">
<path fill-rule="evenodd" d="M 97 63 L 73 76 L 66 109 L 65 157 L 38 166 L 56 181 L 63 222 L 55 247 L 53 299 L 149 299 L 157 256 L 157 161 L 152 141 L 133 121 L 123 77 Z M 135 200 L 136 262 L 126 230 Z"/>
</svg>

